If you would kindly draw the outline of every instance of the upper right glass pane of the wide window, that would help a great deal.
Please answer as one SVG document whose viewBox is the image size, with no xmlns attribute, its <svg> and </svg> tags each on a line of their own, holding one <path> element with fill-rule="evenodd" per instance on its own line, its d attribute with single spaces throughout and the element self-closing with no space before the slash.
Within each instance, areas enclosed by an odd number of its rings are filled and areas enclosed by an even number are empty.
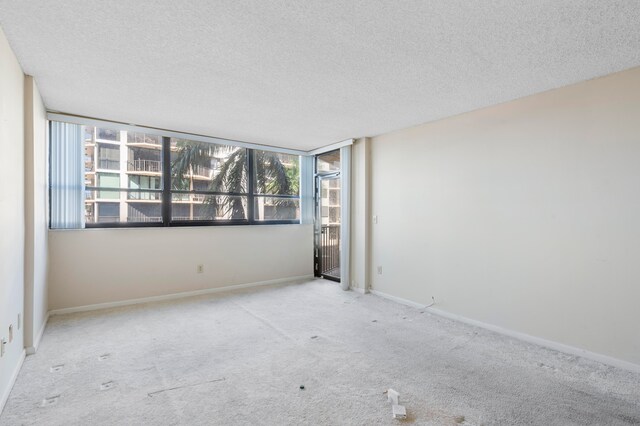
<svg viewBox="0 0 640 426">
<path fill-rule="evenodd" d="M 256 150 L 254 164 L 256 194 L 300 193 L 300 156 Z"/>
</svg>

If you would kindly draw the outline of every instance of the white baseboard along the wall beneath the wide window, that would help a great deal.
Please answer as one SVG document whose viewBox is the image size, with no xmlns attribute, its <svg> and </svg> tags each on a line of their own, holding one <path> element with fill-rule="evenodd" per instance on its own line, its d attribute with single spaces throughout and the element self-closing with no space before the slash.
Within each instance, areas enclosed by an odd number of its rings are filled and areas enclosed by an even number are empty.
<svg viewBox="0 0 640 426">
<path fill-rule="evenodd" d="M 150 296 L 150 297 L 143 297 L 139 299 L 128 299 L 128 300 L 120 300 L 117 302 L 97 303 L 94 305 L 84 305 L 84 306 L 74 306 L 72 308 L 54 309 L 52 311 L 49 311 L 49 315 L 64 315 L 64 314 L 72 314 L 75 312 L 96 311 L 98 309 L 117 308 L 120 306 L 138 305 L 141 303 L 149 303 L 149 302 L 161 302 L 164 300 L 182 299 L 185 297 L 200 296 L 203 294 L 221 293 L 221 292 L 230 291 L 230 290 L 238 290 L 241 288 L 260 287 L 264 285 L 275 285 L 275 284 L 286 284 L 286 283 L 293 283 L 293 282 L 299 282 L 299 281 L 307 281 L 312 279 L 313 279 L 313 275 L 300 275 L 297 277 L 279 278 L 279 279 L 267 280 L 267 281 L 257 281 L 253 283 L 236 284 L 236 285 L 230 285 L 225 287 L 206 288 L 203 290 L 163 294 L 160 296 Z"/>
</svg>

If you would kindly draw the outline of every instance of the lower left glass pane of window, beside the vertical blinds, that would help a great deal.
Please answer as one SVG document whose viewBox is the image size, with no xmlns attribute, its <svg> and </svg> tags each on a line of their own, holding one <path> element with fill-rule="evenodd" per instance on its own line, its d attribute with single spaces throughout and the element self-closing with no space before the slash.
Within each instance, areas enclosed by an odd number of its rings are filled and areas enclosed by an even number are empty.
<svg viewBox="0 0 640 426">
<path fill-rule="evenodd" d="M 161 193 L 119 189 L 85 191 L 85 222 L 162 222 Z"/>
</svg>

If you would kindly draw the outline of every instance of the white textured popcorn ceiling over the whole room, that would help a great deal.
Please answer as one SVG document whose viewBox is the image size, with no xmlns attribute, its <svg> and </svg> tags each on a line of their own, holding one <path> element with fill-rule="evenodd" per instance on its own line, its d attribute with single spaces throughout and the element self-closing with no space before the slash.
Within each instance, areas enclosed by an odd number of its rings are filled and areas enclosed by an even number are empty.
<svg viewBox="0 0 640 426">
<path fill-rule="evenodd" d="M 640 65 L 631 0 L 0 0 L 50 110 L 312 149 Z"/>
</svg>

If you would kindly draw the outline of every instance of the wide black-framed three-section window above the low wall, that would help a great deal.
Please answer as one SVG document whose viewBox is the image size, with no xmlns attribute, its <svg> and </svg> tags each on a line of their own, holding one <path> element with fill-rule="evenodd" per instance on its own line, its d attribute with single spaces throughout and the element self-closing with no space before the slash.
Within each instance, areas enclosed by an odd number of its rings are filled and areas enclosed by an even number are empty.
<svg viewBox="0 0 640 426">
<path fill-rule="evenodd" d="M 74 126 L 52 122 L 56 125 Z M 87 227 L 300 221 L 298 155 L 117 128 L 77 128 L 73 134 L 80 135 L 84 173 L 84 186 L 78 187 Z M 52 194 L 55 190 L 52 182 Z M 60 214 L 64 211 L 57 210 Z"/>
</svg>

